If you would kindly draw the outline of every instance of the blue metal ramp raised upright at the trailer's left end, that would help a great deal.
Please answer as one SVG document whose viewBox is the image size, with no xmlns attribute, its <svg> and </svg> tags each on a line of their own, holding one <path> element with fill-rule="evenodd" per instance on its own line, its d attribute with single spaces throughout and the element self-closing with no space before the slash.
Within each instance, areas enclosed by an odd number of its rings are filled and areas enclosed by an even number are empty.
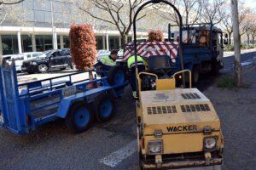
<svg viewBox="0 0 256 170">
<path fill-rule="evenodd" d="M 0 96 L 1 112 L 3 115 L 3 126 L 13 133 L 24 133 L 26 127 L 26 116 L 20 107 L 17 76 L 15 63 L 9 65 L 4 60 L 0 65 Z"/>
</svg>

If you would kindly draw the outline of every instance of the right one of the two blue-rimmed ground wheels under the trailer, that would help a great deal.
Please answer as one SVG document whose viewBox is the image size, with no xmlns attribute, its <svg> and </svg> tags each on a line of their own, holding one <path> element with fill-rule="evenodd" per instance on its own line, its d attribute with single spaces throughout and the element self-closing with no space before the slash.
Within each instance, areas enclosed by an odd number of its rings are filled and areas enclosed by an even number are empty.
<svg viewBox="0 0 256 170">
<path fill-rule="evenodd" d="M 112 95 L 102 94 L 95 101 L 96 119 L 108 122 L 115 114 L 115 99 Z"/>
</svg>

